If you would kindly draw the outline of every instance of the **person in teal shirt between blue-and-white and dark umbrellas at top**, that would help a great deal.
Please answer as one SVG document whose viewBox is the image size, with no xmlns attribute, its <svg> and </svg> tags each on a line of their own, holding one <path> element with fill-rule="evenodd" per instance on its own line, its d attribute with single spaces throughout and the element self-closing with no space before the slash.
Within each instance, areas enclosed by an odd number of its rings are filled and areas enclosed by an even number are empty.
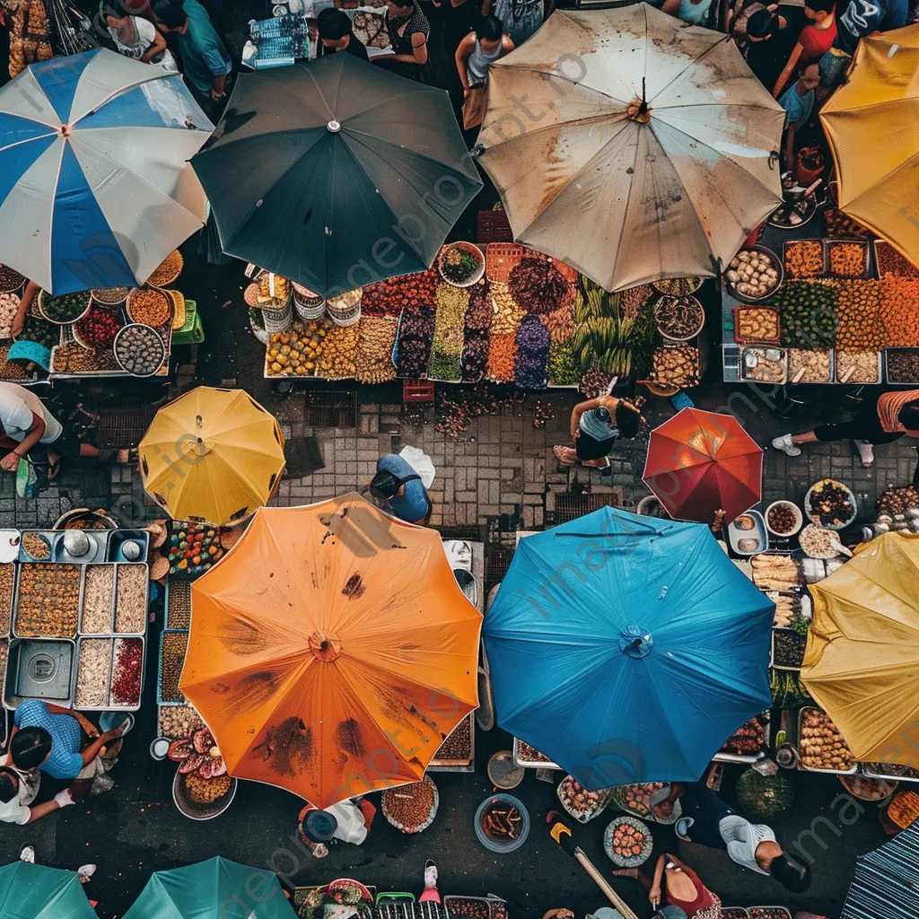
<svg viewBox="0 0 919 919">
<path fill-rule="evenodd" d="M 215 115 L 217 104 L 226 96 L 233 62 L 207 10 L 198 0 L 170 0 L 155 6 L 153 13 L 161 31 L 178 36 L 185 82 L 205 114 Z"/>
</svg>

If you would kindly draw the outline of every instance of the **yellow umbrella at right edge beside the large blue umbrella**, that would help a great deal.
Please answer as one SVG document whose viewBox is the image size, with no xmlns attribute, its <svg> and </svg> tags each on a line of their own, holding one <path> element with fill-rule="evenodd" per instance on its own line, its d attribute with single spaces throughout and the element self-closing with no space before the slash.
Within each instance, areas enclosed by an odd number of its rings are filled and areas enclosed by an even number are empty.
<svg viewBox="0 0 919 919">
<path fill-rule="evenodd" d="M 801 676 L 857 760 L 915 766 L 919 535 L 886 533 L 811 585 Z"/>
</svg>

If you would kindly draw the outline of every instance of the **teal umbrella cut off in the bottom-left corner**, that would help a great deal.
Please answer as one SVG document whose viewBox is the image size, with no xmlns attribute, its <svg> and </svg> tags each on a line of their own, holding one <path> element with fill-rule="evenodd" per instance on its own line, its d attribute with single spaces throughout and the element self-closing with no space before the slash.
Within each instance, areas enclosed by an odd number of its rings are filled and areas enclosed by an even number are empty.
<svg viewBox="0 0 919 919">
<path fill-rule="evenodd" d="M 0 868 L 4 919 L 97 919 L 75 871 L 15 861 Z"/>
</svg>

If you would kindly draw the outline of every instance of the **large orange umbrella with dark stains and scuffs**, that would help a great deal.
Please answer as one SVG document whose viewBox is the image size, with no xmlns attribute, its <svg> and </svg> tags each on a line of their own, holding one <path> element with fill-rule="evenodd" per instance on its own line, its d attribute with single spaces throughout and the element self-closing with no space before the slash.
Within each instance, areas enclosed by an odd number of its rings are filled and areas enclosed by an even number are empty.
<svg viewBox="0 0 919 919">
<path fill-rule="evenodd" d="M 261 507 L 192 586 L 180 686 L 230 774 L 316 804 L 417 781 L 478 705 L 440 538 L 358 494 Z"/>
</svg>

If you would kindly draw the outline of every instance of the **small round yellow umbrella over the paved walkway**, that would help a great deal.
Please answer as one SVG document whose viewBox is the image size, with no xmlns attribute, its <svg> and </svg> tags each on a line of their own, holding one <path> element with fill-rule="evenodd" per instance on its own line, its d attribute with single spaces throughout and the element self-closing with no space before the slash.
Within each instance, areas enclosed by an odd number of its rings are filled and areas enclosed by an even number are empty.
<svg viewBox="0 0 919 919">
<path fill-rule="evenodd" d="M 199 386 L 156 413 L 138 448 L 143 487 L 177 520 L 236 523 L 284 471 L 284 437 L 242 390 Z"/>
</svg>

